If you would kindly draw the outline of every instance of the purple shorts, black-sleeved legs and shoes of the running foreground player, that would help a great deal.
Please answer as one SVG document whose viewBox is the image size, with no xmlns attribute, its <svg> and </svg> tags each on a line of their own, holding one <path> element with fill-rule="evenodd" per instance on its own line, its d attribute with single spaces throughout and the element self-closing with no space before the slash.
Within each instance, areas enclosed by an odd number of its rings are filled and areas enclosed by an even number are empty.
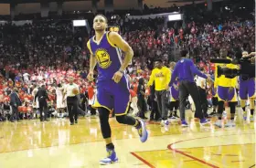
<svg viewBox="0 0 256 168">
<path fill-rule="evenodd" d="M 111 128 L 109 124 L 109 114 L 112 103 L 113 110 L 116 116 L 116 121 L 122 124 L 134 126 L 139 133 L 141 142 L 145 142 L 148 136 L 144 121 L 136 120 L 135 118 L 127 115 L 127 111 L 130 105 L 130 92 L 125 87 L 126 85 L 124 77 L 118 84 L 114 83 L 114 81 L 108 84 L 110 88 L 112 88 L 111 90 L 109 90 L 109 92 L 111 92 L 111 95 L 113 95 L 113 97 L 110 96 L 108 99 L 104 98 L 104 95 L 106 95 L 106 91 L 99 91 L 97 97 L 99 99 L 99 104 L 101 102 L 101 106 L 103 105 L 105 107 L 104 108 L 102 106 L 103 108 L 100 107 L 98 110 L 101 121 L 101 133 L 106 142 L 106 150 L 108 152 L 107 157 L 100 161 L 101 164 L 116 163 L 118 161 L 117 154 L 114 150 L 114 145 L 112 143 Z M 98 102 L 96 102 L 95 106 L 97 106 L 97 103 Z"/>
</svg>

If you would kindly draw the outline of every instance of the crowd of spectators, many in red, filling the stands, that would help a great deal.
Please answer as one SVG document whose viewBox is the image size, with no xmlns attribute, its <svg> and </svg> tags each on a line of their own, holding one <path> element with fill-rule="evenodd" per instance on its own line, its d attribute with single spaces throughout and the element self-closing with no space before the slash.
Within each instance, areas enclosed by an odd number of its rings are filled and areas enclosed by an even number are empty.
<svg viewBox="0 0 256 168">
<path fill-rule="evenodd" d="M 152 14 L 165 10 L 168 9 L 145 8 L 144 11 Z M 178 8 L 173 6 L 172 10 Z M 90 15 L 92 18 L 93 14 Z M 136 88 L 138 79 L 149 78 L 155 58 L 164 60 L 165 65 L 175 61 L 174 49 L 186 48 L 188 57 L 209 73 L 214 71 L 209 58 L 218 58 L 222 47 L 228 49 L 230 57 L 234 57 L 240 48 L 255 51 L 255 23 L 247 13 L 246 19 L 223 12 L 225 18 L 221 17 L 221 20 L 204 16 L 203 23 L 200 19 L 192 21 L 187 18 L 187 22 L 167 25 L 163 17 L 135 20 L 128 19 L 126 15 L 116 19 L 112 19 L 112 14 L 107 16 L 110 23 L 121 27 L 122 37 L 133 48 L 133 63 L 127 68 L 133 88 Z M 89 20 L 92 25 L 92 19 Z M 74 77 L 83 94 L 88 92 L 92 83 L 86 79 L 90 53 L 85 44 L 93 36 L 93 31 L 88 32 L 85 27 L 74 28 L 71 24 L 69 19 L 34 19 L 24 26 L 10 23 L 0 26 L 0 121 L 4 120 L 3 111 L 8 109 L 8 95 L 13 88 L 18 89 L 23 106 L 27 107 L 31 107 L 33 102 L 32 90 L 41 84 L 47 85 L 51 106 L 54 107 L 58 84 L 67 83 L 69 76 Z"/>
</svg>

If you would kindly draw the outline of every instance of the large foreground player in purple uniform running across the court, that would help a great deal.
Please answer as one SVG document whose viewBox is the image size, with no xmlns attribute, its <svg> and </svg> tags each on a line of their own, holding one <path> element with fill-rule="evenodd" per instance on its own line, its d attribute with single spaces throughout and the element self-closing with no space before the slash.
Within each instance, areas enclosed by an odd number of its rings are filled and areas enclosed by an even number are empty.
<svg viewBox="0 0 256 168">
<path fill-rule="evenodd" d="M 129 110 L 130 92 L 128 81 L 125 78 L 125 68 L 133 58 L 133 49 L 115 32 L 106 32 L 107 19 L 105 16 L 95 16 L 93 28 L 95 36 L 87 43 L 91 52 L 90 72 L 88 79 L 93 79 L 93 69 L 97 64 L 98 82 L 97 97 L 93 107 L 99 111 L 101 133 L 106 142 L 108 156 L 100 161 L 101 164 L 118 161 L 112 143 L 111 127 L 109 124 L 110 111 L 114 110 L 119 123 L 133 125 L 140 136 L 141 142 L 147 140 L 148 133 L 145 123 L 127 116 Z M 125 53 L 122 62 L 121 50 Z"/>
</svg>

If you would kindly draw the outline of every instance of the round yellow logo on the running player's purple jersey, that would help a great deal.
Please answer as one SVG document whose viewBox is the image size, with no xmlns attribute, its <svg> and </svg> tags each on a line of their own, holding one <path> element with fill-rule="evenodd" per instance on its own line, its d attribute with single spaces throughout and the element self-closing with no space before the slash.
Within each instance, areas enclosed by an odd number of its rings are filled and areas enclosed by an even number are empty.
<svg viewBox="0 0 256 168">
<path fill-rule="evenodd" d="M 95 57 L 101 68 L 109 68 L 112 64 L 111 57 L 106 49 L 99 48 L 95 52 Z"/>
</svg>

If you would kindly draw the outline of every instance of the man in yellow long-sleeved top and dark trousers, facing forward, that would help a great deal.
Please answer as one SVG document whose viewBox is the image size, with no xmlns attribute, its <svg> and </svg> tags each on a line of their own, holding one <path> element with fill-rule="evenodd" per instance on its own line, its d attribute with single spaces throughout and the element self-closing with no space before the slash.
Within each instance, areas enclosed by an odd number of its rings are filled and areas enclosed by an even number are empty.
<svg viewBox="0 0 256 168">
<path fill-rule="evenodd" d="M 152 70 L 147 86 L 152 86 L 155 81 L 155 95 L 157 100 L 158 110 L 161 114 L 161 125 L 168 125 L 167 121 L 168 109 L 167 103 L 169 98 L 169 82 L 171 79 L 171 71 L 163 66 L 161 59 L 155 60 L 155 68 Z"/>
</svg>

